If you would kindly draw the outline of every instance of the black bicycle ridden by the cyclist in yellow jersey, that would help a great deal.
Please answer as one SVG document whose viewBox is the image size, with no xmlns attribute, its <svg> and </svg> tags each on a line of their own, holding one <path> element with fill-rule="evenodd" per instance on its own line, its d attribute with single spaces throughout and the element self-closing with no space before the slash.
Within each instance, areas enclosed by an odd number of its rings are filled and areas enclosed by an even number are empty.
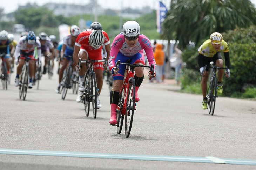
<svg viewBox="0 0 256 170">
<path fill-rule="evenodd" d="M 217 76 L 216 72 L 217 69 L 226 69 L 228 71 L 227 66 L 225 67 L 217 67 L 214 62 L 210 62 L 210 66 L 204 66 L 204 71 L 206 68 L 211 68 L 212 73 L 211 73 L 211 81 L 209 84 L 209 87 L 207 88 L 207 98 L 208 98 L 208 103 L 207 103 L 207 109 L 209 114 L 213 115 L 214 114 L 214 109 L 215 109 L 215 103 L 216 103 L 216 97 L 218 97 L 218 87 L 217 87 Z"/>
</svg>

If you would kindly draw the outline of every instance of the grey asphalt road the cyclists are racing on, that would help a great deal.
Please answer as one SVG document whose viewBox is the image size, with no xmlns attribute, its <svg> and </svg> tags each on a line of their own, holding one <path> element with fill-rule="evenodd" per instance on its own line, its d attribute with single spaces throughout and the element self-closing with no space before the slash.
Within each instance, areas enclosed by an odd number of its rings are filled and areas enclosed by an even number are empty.
<svg viewBox="0 0 256 170">
<path fill-rule="evenodd" d="M 132 132 L 125 137 L 109 124 L 110 99 L 106 83 L 97 118 L 88 117 L 82 103 L 68 90 L 65 100 L 55 93 L 58 76 L 42 77 L 39 90 L 28 89 L 19 99 L 11 75 L 8 90 L 0 89 L 0 148 L 83 153 L 158 155 L 256 160 L 256 101 L 218 97 L 214 116 L 201 109 L 202 95 L 179 93 L 178 86 L 148 83 Z M 223 89 L 225 90 L 225 89 Z M 192 163 L 61 156 L 0 154 L 0 169 L 256 169 L 251 165 Z"/>
</svg>

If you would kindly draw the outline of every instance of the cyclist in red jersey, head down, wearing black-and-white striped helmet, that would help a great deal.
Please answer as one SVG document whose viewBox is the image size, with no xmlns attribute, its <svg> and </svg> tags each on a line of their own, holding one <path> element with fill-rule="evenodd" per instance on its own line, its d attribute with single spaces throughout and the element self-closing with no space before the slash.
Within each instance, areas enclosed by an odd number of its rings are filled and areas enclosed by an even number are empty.
<svg viewBox="0 0 256 170">
<path fill-rule="evenodd" d="M 110 44 L 108 35 L 106 32 L 101 30 L 88 30 L 82 32 L 76 39 L 75 49 L 74 49 L 74 62 L 77 65 L 79 58 L 81 59 L 91 59 L 91 60 L 102 60 L 101 48 L 102 44 Z M 86 72 L 86 65 L 81 64 L 82 69 L 79 72 L 79 91 L 85 91 L 83 76 Z M 94 71 L 96 75 L 97 87 L 99 89 L 99 94 L 101 93 L 101 88 L 103 85 L 103 62 L 94 63 Z M 101 108 L 101 103 L 99 97 L 97 97 L 97 108 Z"/>
</svg>

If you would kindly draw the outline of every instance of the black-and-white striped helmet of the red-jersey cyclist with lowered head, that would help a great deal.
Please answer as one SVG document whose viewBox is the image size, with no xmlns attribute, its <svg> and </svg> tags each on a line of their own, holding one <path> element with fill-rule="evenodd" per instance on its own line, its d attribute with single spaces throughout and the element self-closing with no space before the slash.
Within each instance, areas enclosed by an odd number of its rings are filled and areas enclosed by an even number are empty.
<svg viewBox="0 0 256 170">
<path fill-rule="evenodd" d="M 89 36 L 89 42 L 94 49 L 99 49 L 104 43 L 104 34 L 101 30 L 94 30 Z"/>
</svg>

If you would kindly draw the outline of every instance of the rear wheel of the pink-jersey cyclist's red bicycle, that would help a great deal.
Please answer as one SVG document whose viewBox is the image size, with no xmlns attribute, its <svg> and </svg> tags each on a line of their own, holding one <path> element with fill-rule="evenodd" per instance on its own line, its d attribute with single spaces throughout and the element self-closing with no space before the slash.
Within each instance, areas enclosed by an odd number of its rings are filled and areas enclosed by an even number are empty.
<svg viewBox="0 0 256 170">
<path fill-rule="evenodd" d="M 122 110 L 123 110 L 123 103 L 124 102 L 124 89 L 121 89 L 120 91 L 120 96 L 119 96 L 119 102 L 117 104 L 117 109 L 116 109 L 116 113 L 117 113 L 117 134 L 120 134 L 122 131 L 122 127 L 123 127 L 123 117 L 124 115 L 122 115 Z M 119 107 L 119 109 L 118 109 Z"/>
</svg>

